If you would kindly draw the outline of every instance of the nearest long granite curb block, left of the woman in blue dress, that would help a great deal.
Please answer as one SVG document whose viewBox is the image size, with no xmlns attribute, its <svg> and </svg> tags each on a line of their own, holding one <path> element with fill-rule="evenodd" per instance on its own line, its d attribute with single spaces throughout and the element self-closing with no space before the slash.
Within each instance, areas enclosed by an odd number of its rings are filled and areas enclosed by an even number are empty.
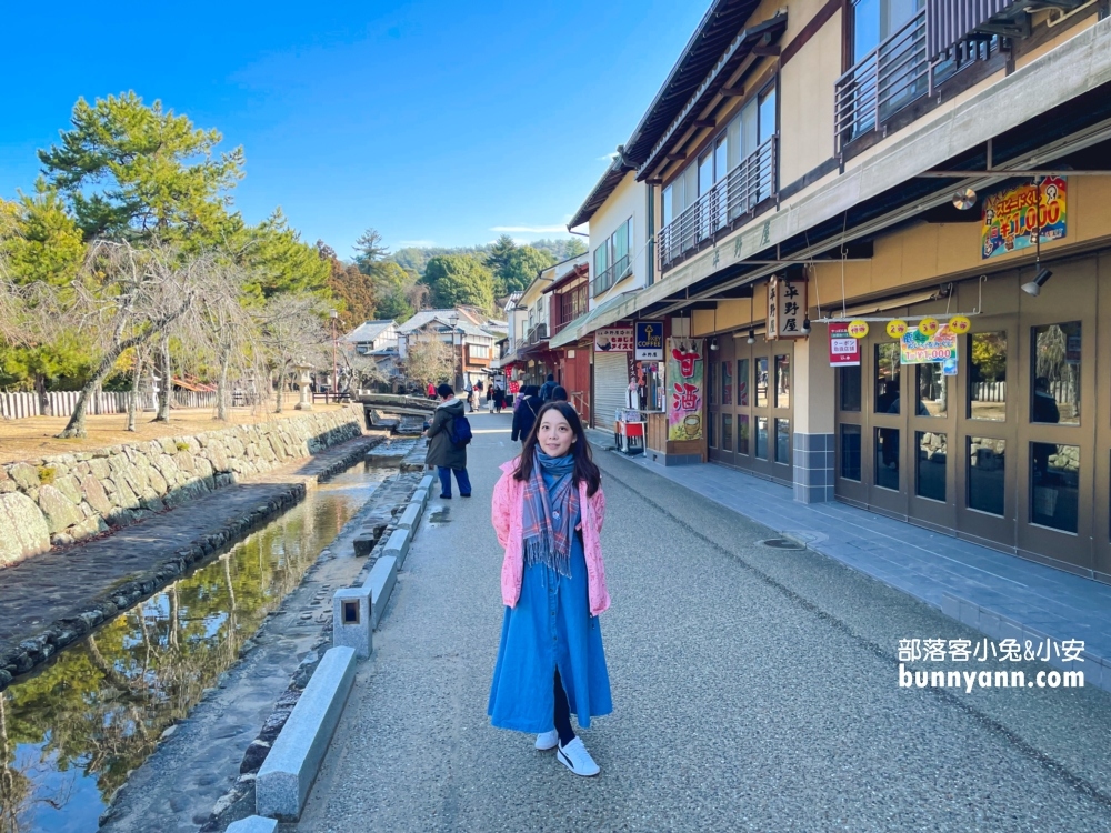
<svg viewBox="0 0 1111 833">
<path fill-rule="evenodd" d="M 297 821 L 354 684 L 356 653 L 332 648 L 286 721 L 254 782 L 256 812 Z"/>
</svg>

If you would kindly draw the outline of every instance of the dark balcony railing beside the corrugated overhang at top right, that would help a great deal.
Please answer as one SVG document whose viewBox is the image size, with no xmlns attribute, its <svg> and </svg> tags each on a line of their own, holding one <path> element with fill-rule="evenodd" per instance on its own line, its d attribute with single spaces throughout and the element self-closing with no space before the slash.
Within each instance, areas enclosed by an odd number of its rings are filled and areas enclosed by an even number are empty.
<svg viewBox="0 0 1111 833">
<path fill-rule="evenodd" d="M 929 73 L 922 9 L 838 79 L 833 93 L 838 152 L 927 94 Z"/>
</svg>

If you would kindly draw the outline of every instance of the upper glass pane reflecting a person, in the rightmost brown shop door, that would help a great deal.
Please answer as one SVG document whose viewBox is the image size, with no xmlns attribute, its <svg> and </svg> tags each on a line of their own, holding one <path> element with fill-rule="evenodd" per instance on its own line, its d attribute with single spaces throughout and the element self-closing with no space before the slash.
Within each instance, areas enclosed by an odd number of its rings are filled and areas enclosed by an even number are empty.
<svg viewBox="0 0 1111 833">
<path fill-rule="evenodd" d="M 1080 322 L 1030 330 L 1030 421 L 1079 425 Z"/>
</svg>

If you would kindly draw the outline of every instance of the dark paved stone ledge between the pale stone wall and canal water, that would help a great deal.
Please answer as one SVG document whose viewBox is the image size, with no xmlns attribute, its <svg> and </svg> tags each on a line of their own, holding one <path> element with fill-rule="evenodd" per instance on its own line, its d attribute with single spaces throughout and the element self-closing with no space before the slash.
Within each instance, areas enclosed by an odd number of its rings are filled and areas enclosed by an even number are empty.
<svg viewBox="0 0 1111 833">
<path fill-rule="evenodd" d="M 386 440 L 364 435 L 0 573 L 0 690 L 217 550 L 298 503 Z"/>
</svg>

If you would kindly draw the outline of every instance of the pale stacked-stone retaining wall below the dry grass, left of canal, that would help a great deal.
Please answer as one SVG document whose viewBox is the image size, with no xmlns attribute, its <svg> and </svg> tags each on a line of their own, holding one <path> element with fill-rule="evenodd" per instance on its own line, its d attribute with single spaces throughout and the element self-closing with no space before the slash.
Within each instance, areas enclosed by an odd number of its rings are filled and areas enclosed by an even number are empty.
<svg viewBox="0 0 1111 833">
<path fill-rule="evenodd" d="M 0 566 L 128 526 L 362 433 L 313 413 L 0 465 Z"/>
</svg>

